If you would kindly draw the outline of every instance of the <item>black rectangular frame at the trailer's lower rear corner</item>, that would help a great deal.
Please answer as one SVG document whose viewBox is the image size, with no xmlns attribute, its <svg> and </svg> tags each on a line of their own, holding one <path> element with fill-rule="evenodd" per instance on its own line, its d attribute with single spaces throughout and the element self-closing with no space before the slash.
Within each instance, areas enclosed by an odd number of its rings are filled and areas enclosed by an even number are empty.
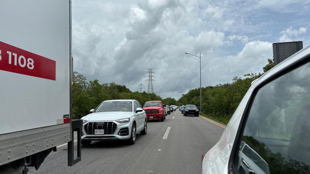
<svg viewBox="0 0 310 174">
<path fill-rule="evenodd" d="M 83 125 L 83 121 L 82 120 L 72 120 L 71 122 L 71 141 L 68 142 L 68 166 L 73 166 L 74 164 L 78 163 L 81 161 L 81 143 L 82 143 L 82 136 L 81 136 L 81 132 L 82 132 L 82 125 Z M 77 157 L 74 157 L 74 132 L 77 132 L 78 135 L 78 152 L 77 152 Z"/>
</svg>

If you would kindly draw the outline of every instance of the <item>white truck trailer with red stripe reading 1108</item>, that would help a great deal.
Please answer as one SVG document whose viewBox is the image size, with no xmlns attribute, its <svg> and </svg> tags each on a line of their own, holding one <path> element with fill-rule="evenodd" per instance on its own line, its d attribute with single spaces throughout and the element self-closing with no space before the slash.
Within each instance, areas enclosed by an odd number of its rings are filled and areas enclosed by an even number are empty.
<svg viewBox="0 0 310 174">
<path fill-rule="evenodd" d="M 81 160 L 82 121 L 71 120 L 71 0 L 3 0 L 0 7 L 0 167 L 38 169 L 64 143 L 72 166 Z"/>
</svg>

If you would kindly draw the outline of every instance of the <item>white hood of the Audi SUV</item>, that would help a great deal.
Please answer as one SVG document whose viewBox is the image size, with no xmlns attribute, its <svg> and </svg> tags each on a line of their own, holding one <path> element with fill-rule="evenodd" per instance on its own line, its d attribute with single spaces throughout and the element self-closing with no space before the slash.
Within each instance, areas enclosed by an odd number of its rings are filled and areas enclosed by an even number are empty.
<svg viewBox="0 0 310 174">
<path fill-rule="evenodd" d="M 86 121 L 114 121 L 124 118 L 130 118 L 134 112 L 95 112 L 82 117 Z"/>
</svg>

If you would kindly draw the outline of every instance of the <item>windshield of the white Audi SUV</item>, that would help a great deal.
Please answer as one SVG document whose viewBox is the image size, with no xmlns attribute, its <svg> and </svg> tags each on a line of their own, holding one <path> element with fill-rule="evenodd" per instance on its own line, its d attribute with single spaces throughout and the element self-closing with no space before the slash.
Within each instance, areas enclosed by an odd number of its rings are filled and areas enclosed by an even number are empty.
<svg viewBox="0 0 310 174">
<path fill-rule="evenodd" d="M 132 102 L 127 101 L 102 102 L 94 112 L 115 112 L 115 111 L 132 112 Z"/>
</svg>

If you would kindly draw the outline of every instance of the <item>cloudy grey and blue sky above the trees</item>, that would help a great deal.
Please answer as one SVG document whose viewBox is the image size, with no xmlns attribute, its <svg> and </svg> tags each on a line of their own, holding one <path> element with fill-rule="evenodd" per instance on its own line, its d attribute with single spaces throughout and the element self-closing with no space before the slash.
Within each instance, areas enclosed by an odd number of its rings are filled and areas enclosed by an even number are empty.
<svg viewBox="0 0 310 174">
<path fill-rule="evenodd" d="M 74 70 L 88 80 L 148 89 L 178 99 L 201 85 L 262 72 L 272 43 L 310 45 L 310 2 L 304 0 L 73 0 Z"/>
</svg>

